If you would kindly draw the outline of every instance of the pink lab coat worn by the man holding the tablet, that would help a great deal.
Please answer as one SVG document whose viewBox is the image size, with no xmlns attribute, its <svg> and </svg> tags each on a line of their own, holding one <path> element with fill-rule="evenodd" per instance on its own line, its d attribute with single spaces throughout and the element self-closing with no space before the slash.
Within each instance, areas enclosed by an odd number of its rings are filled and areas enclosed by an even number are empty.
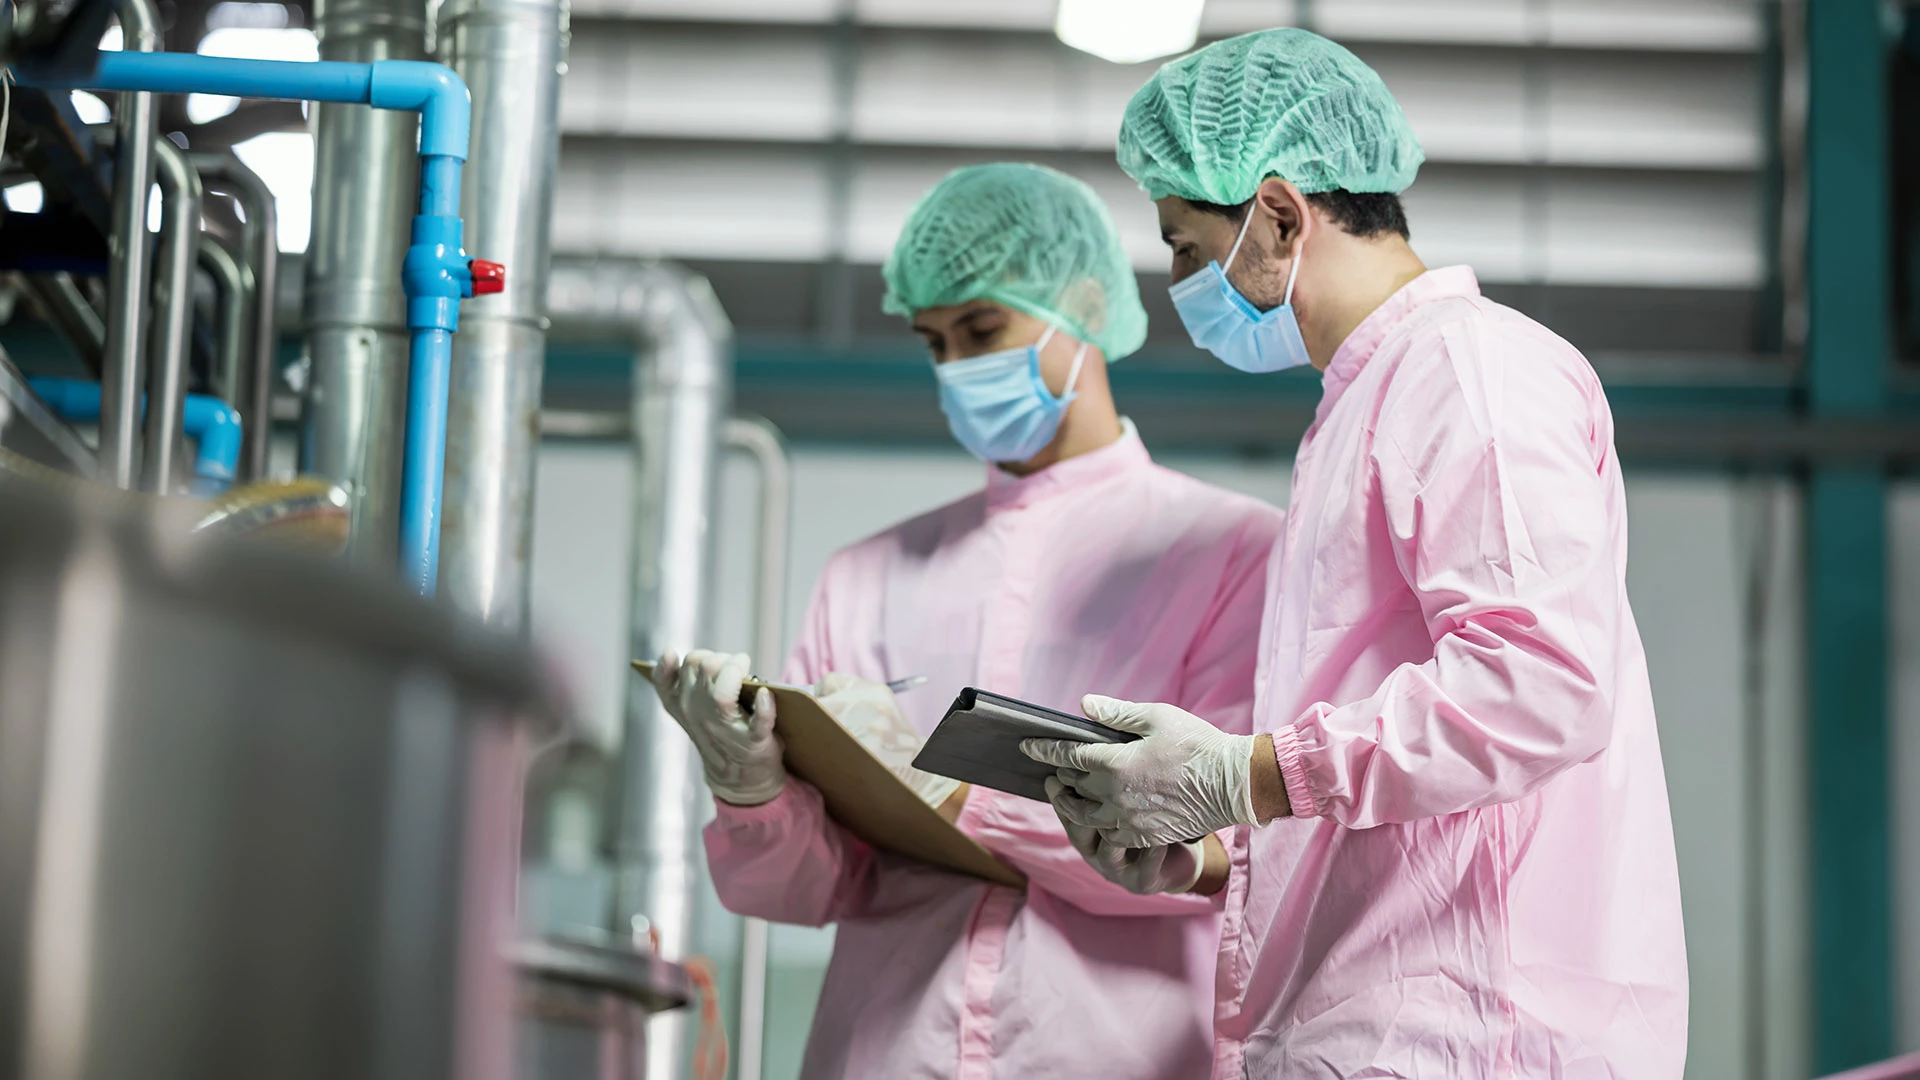
<svg viewBox="0 0 1920 1080">
<path fill-rule="evenodd" d="M 1473 271 L 1415 279 L 1334 354 L 1256 696 L 1298 817 L 1244 836 L 1215 1078 L 1680 1076 L 1613 419 Z"/>
</svg>

